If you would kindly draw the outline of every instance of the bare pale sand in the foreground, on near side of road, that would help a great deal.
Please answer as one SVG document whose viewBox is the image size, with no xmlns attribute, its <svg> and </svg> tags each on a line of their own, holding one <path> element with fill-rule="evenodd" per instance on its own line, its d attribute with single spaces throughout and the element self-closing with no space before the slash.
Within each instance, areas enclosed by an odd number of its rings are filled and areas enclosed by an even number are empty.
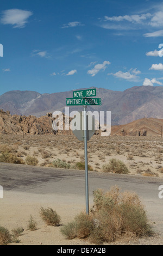
<svg viewBox="0 0 163 256">
<path fill-rule="evenodd" d="M 12 229 L 22 227 L 24 232 L 18 237 L 19 243 L 10 245 L 92 245 L 87 240 L 67 240 L 60 231 L 60 227 L 47 226 L 41 219 L 39 211 L 43 205 L 45 208 L 57 209 L 61 217 L 61 225 L 73 220 L 73 217 L 84 211 L 85 202 L 83 197 L 54 194 L 33 194 L 27 192 L 5 191 L 1 204 L 1 225 L 7 228 L 10 233 Z M 72 203 L 73 199 L 73 203 Z M 92 203 L 92 202 L 90 202 Z M 27 229 L 30 215 L 37 222 L 37 230 Z M 152 237 L 145 237 L 137 240 L 116 241 L 104 243 L 103 245 L 163 245 L 163 235 L 155 234 Z"/>
</svg>

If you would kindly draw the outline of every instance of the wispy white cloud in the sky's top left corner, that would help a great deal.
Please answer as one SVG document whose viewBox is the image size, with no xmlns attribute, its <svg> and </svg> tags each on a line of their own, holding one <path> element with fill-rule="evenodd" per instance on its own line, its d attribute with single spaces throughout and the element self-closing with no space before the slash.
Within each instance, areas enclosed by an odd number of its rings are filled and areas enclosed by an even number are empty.
<svg viewBox="0 0 163 256">
<path fill-rule="evenodd" d="M 33 15 L 32 11 L 21 9 L 5 10 L 2 11 L 1 23 L 12 25 L 14 28 L 23 28 L 31 15 Z"/>
</svg>

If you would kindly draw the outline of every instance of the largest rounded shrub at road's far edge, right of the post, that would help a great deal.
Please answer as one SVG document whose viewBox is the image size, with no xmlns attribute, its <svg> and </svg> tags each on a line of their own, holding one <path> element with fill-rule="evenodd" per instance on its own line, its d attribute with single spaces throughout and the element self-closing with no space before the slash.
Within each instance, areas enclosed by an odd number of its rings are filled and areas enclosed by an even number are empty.
<svg viewBox="0 0 163 256">
<path fill-rule="evenodd" d="M 129 170 L 121 160 L 110 159 L 109 163 L 103 164 L 103 172 L 128 174 Z"/>
</svg>

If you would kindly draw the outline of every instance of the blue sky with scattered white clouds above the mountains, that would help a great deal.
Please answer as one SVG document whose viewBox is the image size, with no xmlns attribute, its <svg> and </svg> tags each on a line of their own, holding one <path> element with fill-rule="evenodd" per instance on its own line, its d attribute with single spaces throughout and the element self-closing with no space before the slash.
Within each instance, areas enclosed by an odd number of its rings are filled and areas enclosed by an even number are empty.
<svg viewBox="0 0 163 256">
<path fill-rule="evenodd" d="M 162 1 L 1 0 L 0 8 L 0 94 L 163 86 Z"/>
</svg>

